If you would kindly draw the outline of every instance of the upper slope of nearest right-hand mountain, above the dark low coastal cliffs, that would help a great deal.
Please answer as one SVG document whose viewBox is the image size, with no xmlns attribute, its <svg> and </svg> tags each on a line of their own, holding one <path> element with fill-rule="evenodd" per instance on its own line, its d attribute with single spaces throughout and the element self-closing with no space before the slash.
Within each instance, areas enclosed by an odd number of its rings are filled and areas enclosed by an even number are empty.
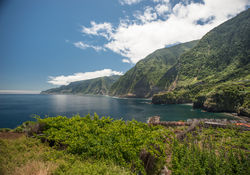
<svg viewBox="0 0 250 175">
<path fill-rule="evenodd" d="M 177 78 L 177 87 L 249 79 L 249 17 L 250 9 L 208 32 L 180 57 L 161 84 L 173 83 L 171 75 Z"/>
</svg>

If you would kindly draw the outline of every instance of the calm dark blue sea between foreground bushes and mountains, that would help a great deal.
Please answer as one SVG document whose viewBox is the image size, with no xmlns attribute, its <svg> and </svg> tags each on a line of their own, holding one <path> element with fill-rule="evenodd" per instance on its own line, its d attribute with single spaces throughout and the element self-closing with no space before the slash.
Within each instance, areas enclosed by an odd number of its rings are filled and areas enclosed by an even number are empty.
<svg viewBox="0 0 250 175">
<path fill-rule="evenodd" d="M 150 116 L 161 120 L 186 120 L 188 118 L 229 118 L 224 114 L 193 110 L 189 105 L 153 105 L 145 99 L 119 99 L 106 96 L 75 95 L 0 95 L 0 128 L 15 128 L 32 115 L 45 116 L 74 114 L 84 116 L 96 112 L 99 116 L 145 122 Z"/>
</svg>

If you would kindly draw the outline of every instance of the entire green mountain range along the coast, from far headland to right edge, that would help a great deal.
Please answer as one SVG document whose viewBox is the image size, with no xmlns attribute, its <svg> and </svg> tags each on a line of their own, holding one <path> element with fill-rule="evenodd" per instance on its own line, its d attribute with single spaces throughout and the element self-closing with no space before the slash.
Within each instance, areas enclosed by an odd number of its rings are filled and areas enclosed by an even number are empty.
<svg viewBox="0 0 250 175">
<path fill-rule="evenodd" d="M 154 104 L 194 102 L 208 111 L 250 116 L 249 19 L 250 9 L 199 41 L 156 50 L 121 77 L 73 82 L 42 93 L 153 96 Z"/>
</svg>

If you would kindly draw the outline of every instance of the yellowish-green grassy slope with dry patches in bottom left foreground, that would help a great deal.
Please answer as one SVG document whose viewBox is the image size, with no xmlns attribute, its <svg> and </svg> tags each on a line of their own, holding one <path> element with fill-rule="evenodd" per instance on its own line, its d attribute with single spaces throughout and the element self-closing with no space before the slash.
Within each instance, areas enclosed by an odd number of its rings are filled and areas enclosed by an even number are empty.
<svg viewBox="0 0 250 175">
<path fill-rule="evenodd" d="M 82 160 L 63 150 L 55 150 L 35 138 L 0 138 L 0 174 L 89 174 L 128 175 L 129 170 L 107 160 Z"/>
</svg>

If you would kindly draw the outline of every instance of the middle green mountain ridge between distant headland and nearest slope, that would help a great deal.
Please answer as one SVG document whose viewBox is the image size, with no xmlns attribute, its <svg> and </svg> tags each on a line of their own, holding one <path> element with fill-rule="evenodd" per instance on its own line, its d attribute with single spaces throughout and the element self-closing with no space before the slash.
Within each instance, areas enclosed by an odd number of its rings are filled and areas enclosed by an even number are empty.
<svg viewBox="0 0 250 175">
<path fill-rule="evenodd" d="M 161 77 L 173 65 L 181 54 L 190 50 L 198 41 L 178 44 L 169 48 L 156 50 L 115 82 L 110 95 L 125 97 L 151 97 L 161 91 L 157 84 Z"/>
</svg>

